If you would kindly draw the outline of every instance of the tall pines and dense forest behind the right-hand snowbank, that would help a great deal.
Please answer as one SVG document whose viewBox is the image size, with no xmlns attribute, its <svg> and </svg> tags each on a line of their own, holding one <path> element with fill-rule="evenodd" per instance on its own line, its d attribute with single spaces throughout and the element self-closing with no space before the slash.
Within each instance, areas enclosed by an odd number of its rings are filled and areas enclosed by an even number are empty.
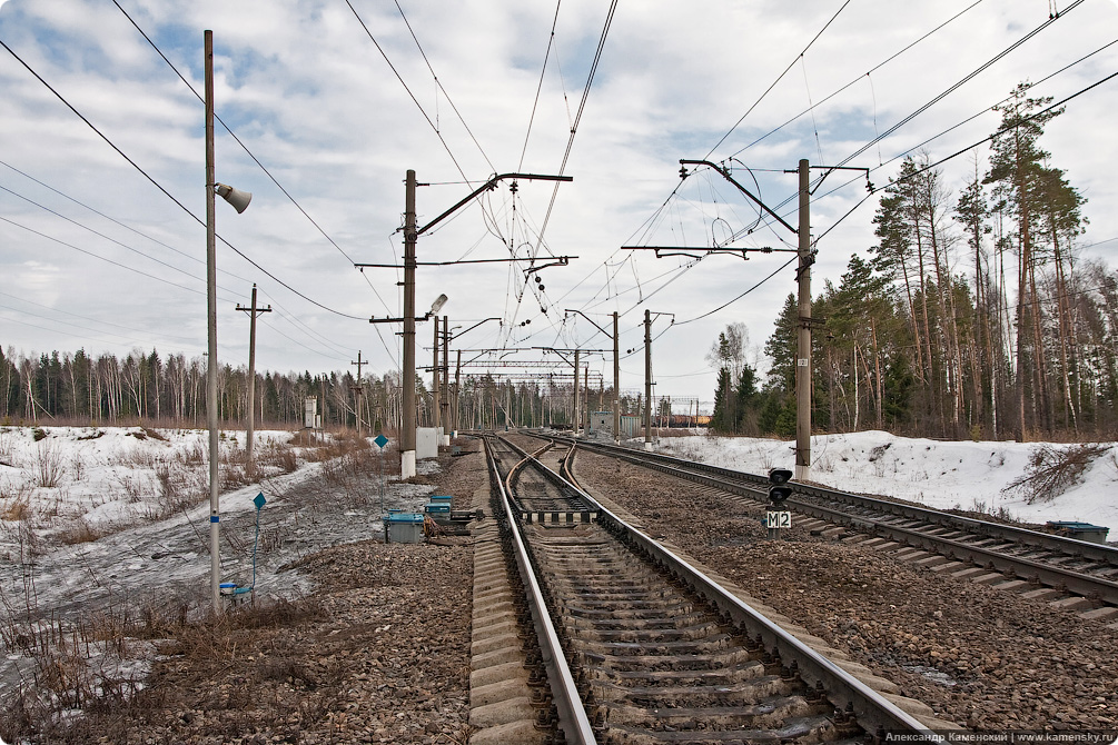
<svg viewBox="0 0 1118 745">
<path fill-rule="evenodd" d="M 1086 199 L 1041 145 L 1062 113 L 1020 85 L 996 107 L 985 170 L 958 194 L 927 154 L 883 190 L 877 242 L 813 298 L 813 412 L 827 431 L 944 438 L 1110 437 L 1118 395 L 1118 275 L 1081 256 Z M 727 328 L 712 426 L 795 432 L 798 308 L 765 344 L 758 389 Z M 748 335 L 746 335 L 748 338 Z"/>
</svg>

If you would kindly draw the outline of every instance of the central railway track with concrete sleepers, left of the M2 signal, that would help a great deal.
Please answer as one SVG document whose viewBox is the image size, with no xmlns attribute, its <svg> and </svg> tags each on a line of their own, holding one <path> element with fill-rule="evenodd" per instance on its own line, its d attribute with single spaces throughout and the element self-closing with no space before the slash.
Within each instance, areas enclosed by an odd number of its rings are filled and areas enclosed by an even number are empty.
<svg viewBox="0 0 1118 745">
<path fill-rule="evenodd" d="M 544 446 L 533 457 L 492 437 L 486 446 L 494 509 L 547 671 L 539 720 L 556 727 L 552 742 L 930 737 L 927 725 L 563 479 L 556 470 L 569 451 L 557 457 Z"/>
</svg>

